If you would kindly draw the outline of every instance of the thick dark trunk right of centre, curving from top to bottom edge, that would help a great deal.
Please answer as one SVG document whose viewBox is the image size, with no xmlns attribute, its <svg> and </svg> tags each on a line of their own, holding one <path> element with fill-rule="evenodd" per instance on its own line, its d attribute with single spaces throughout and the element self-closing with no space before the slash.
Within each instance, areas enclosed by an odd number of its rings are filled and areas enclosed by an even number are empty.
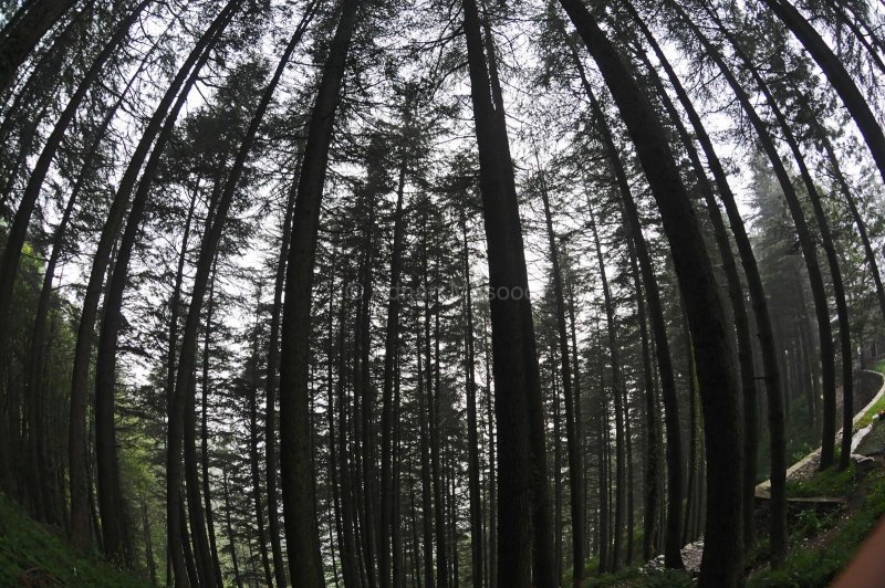
<svg viewBox="0 0 885 588">
<path fill-rule="evenodd" d="M 652 105 L 587 9 L 577 0 L 561 3 L 612 92 L 660 211 L 697 343 L 705 420 L 716 423 L 706 429 L 710 468 L 701 582 L 737 586 L 743 577 L 740 392 L 712 263 L 666 133 Z"/>
</svg>

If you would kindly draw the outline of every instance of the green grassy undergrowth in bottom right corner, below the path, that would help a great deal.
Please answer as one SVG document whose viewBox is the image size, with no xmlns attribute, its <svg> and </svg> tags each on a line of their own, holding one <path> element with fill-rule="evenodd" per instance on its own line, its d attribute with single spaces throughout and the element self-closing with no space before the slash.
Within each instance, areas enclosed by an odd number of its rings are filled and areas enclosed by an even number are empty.
<svg viewBox="0 0 885 588">
<path fill-rule="evenodd" d="M 833 490 L 840 487 L 840 476 L 819 474 L 822 487 Z M 842 480 L 843 483 L 844 479 Z M 852 479 L 851 484 L 855 482 Z M 748 587 L 802 587 L 814 588 L 827 586 L 836 575 L 847 566 L 851 558 L 870 535 L 878 519 L 885 514 L 885 473 L 875 471 L 865 480 L 856 483 L 856 504 L 841 525 L 831 531 L 823 531 L 821 540 L 811 540 L 806 545 L 794 545 L 784 563 L 777 569 L 763 569 L 750 577 Z M 848 487 L 848 486 L 841 486 Z M 801 529 L 794 528 L 798 535 Z M 811 531 L 811 529 L 804 529 Z"/>
</svg>

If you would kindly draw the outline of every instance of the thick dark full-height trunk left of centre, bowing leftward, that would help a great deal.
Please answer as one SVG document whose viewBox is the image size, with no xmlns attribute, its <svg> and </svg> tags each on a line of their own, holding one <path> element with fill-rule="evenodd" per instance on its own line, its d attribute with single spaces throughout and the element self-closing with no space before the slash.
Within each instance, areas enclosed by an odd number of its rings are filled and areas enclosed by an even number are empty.
<svg viewBox="0 0 885 588">
<path fill-rule="evenodd" d="M 308 130 L 292 220 L 282 324 L 280 462 L 287 550 L 294 586 L 323 585 L 310 449 L 311 286 L 329 147 L 358 2 L 344 0 Z"/>
</svg>

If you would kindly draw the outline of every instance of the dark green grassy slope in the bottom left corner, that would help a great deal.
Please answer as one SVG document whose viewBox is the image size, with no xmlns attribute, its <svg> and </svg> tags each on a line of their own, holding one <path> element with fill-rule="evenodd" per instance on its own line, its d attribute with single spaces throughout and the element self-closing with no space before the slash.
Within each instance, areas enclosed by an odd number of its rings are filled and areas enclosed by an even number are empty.
<svg viewBox="0 0 885 588">
<path fill-rule="evenodd" d="M 110 564 L 76 555 L 58 532 L 0 494 L 0 586 L 147 587 Z"/>
</svg>

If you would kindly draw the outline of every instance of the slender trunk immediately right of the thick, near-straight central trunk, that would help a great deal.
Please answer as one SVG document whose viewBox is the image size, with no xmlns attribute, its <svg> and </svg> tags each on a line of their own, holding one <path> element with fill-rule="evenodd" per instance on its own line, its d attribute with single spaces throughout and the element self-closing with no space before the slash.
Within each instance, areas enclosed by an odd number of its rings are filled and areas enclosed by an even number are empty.
<svg viewBox="0 0 885 588">
<path fill-rule="evenodd" d="M 535 155 L 537 159 L 537 155 Z M 565 444 L 569 452 L 569 489 L 571 496 L 572 521 L 572 584 L 580 587 L 584 581 L 584 491 L 583 468 L 581 466 L 581 447 L 577 439 L 574 398 L 572 396 L 572 363 L 569 355 L 569 329 L 565 325 L 565 295 L 562 285 L 556 235 L 553 232 L 553 218 L 550 212 L 550 195 L 548 193 L 544 172 L 539 170 L 541 200 L 544 206 L 548 246 L 552 265 L 553 298 L 555 302 L 556 332 L 559 336 L 559 357 L 562 374 L 562 393 L 565 405 Z M 604 279 L 603 279 L 604 280 Z M 559 442 L 559 441 L 558 441 Z M 561 575 L 556 576 L 558 578 Z"/>
</svg>

